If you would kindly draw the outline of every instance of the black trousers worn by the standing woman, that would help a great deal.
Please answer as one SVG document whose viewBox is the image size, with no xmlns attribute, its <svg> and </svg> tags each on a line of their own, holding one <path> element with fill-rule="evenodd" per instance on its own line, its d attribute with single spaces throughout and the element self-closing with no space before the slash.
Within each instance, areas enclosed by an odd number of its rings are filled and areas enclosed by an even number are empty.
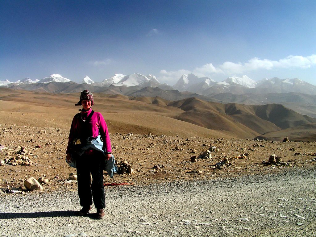
<svg viewBox="0 0 316 237">
<path fill-rule="evenodd" d="M 82 207 L 92 205 L 96 209 L 105 208 L 103 165 L 105 157 L 100 152 L 76 157 L 78 195 Z M 92 184 L 90 173 L 92 175 Z"/>
</svg>

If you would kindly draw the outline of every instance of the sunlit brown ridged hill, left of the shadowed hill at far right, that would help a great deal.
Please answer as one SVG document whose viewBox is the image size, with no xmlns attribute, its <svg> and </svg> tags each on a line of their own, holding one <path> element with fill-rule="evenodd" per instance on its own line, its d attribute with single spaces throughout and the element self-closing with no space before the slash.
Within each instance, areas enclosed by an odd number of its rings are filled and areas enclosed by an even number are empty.
<svg viewBox="0 0 316 237">
<path fill-rule="evenodd" d="M 237 137 L 250 138 L 256 134 L 280 129 L 271 122 L 258 118 L 251 108 L 244 105 L 220 104 L 189 98 L 171 102 L 169 106 L 179 107 L 185 111 L 177 119 L 210 129 L 229 131 Z"/>
</svg>

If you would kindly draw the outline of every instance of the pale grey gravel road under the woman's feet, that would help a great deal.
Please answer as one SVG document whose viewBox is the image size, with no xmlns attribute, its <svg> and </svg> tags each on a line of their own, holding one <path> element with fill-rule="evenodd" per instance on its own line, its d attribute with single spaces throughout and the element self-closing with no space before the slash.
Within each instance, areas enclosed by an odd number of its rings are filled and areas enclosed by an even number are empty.
<svg viewBox="0 0 316 237">
<path fill-rule="evenodd" d="M 106 187 L 106 218 L 75 191 L 0 195 L 0 236 L 315 236 L 316 169 Z"/>
</svg>

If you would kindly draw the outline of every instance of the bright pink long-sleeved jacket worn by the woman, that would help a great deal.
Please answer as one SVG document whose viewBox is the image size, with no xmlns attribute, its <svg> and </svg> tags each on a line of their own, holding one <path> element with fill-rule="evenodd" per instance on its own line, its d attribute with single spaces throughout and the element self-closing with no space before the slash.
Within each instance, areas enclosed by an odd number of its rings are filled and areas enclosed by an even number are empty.
<svg viewBox="0 0 316 237">
<path fill-rule="evenodd" d="M 82 111 L 77 113 L 72 119 L 66 153 L 70 152 L 70 144 L 76 138 L 80 138 L 80 140 L 83 141 L 88 137 L 98 137 L 99 134 L 104 143 L 106 152 L 112 152 L 109 131 L 107 130 L 107 125 L 102 114 L 94 112 L 89 121 L 83 121 L 87 120 L 91 111 L 92 109 L 87 112 Z"/>
</svg>

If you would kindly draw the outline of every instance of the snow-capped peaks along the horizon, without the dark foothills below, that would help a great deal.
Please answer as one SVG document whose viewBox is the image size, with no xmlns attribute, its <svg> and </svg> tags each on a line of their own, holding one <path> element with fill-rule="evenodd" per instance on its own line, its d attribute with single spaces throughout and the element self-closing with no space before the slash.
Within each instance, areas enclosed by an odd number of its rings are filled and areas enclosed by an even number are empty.
<svg viewBox="0 0 316 237">
<path fill-rule="evenodd" d="M 33 84 L 33 83 L 50 83 L 50 82 L 71 82 L 71 80 L 64 78 L 59 74 L 53 74 L 47 76 L 41 80 L 31 80 L 25 78 L 17 82 L 0 81 L 0 86 L 12 86 L 21 84 Z M 280 79 L 277 77 L 267 79 L 264 78 L 261 81 L 254 81 L 248 76 L 241 77 L 232 76 L 228 77 L 222 82 L 216 82 L 209 77 L 198 77 L 194 74 L 182 75 L 179 80 L 173 85 L 167 85 L 166 83 L 160 83 L 154 75 L 144 76 L 139 73 L 131 75 L 115 74 L 114 76 L 104 79 L 102 82 L 94 82 L 89 76 L 80 82 L 81 84 L 89 84 L 96 87 L 108 87 L 114 86 L 126 86 L 126 87 L 158 87 L 163 90 L 176 89 L 178 91 L 189 91 L 205 96 L 212 96 L 220 93 L 232 93 L 232 94 L 266 94 L 266 93 L 303 93 L 303 94 L 316 94 L 316 86 L 304 82 L 298 78 L 293 79 Z"/>
</svg>

